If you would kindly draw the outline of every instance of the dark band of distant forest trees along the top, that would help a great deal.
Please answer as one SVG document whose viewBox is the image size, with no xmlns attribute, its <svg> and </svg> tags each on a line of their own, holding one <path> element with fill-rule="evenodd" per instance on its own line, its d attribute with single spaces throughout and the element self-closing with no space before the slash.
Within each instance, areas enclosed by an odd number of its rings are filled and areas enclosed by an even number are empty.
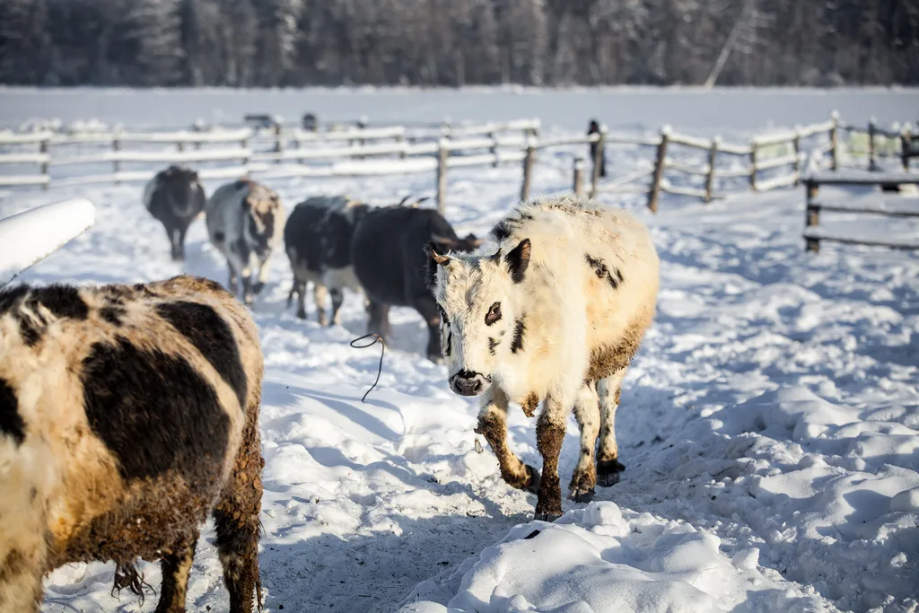
<svg viewBox="0 0 919 613">
<path fill-rule="evenodd" d="M 916 0 L 3 0 L 21 85 L 919 84 Z"/>
</svg>

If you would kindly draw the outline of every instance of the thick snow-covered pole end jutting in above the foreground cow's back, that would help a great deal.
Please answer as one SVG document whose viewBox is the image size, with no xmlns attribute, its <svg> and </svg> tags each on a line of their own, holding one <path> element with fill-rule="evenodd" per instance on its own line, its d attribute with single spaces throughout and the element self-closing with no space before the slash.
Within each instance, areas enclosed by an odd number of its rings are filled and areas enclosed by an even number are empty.
<svg viewBox="0 0 919 613">
<path fill-rule="evenodd" d="M 0 287 L 84 233 L 96 221 L 87 199 L 62 200 L 0 220 Z"/>
</svg>

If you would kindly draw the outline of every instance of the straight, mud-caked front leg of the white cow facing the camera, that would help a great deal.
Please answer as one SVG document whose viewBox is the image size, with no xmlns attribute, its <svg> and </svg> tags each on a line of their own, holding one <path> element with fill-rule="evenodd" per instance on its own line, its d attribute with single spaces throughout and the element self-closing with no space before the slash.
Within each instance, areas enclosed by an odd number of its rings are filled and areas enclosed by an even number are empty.
<svg viewBox="0 0 919 613">
<path fill-rule="evenodd" d="M 565 419 L 573 399 L 552 395 L 546 398 L 536 426 L 536 445 L 542 455 L 542 479 L 537 493 L 536 518 L 554 521 L 562 517 L 562 488 L 559 485 L 559 454 L 565 437 Z"/>
</svg>

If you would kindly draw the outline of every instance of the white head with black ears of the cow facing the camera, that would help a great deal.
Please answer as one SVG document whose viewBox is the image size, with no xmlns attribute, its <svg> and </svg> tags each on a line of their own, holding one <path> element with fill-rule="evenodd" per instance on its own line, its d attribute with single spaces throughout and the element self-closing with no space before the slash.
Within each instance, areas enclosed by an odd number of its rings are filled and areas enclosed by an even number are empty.
<svg viewBox="0 0 919 613">
<path fill-rule="evenodd" d="M 444 255 L 433 242 L 426 251 L 450 389 L 478 395 L 488 389 L 497 364 L 522 349 L 524 295 L 519 284 L 529 266 L 529 239 L 493 255 Z"/>
</svg>

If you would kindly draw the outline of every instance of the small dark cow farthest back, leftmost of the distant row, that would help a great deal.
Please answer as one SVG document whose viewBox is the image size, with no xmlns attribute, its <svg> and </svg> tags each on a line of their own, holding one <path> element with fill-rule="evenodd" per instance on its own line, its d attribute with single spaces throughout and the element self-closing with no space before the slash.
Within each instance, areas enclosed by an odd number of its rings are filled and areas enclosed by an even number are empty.
<svg viewBox="0 0 919 613">
<path fill-rule="evenodd" d="M 174 260 L 185 259 L 185 233 L 204 210 L 198 173 L 182 166 L 161 170 L 143 189 L 143 204 L 166 229 Z"/>
</svg>

